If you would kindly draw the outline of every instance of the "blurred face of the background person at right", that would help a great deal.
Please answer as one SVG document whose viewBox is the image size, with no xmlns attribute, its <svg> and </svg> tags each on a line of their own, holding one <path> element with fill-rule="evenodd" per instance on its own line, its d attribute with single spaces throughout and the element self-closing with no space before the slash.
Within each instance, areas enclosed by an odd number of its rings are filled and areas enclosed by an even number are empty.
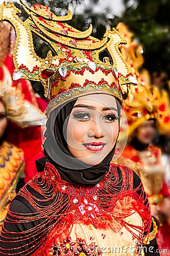
<svg viewBox="0 0 170 256">
<path fill-rule="evenodd" d="M 136 137 L 138 141 L 143 144 L 150 144 L 155 135 L 155 122 L 154 120 L 147 120 L 142 123 L 137 129 Z"/>
</svg>

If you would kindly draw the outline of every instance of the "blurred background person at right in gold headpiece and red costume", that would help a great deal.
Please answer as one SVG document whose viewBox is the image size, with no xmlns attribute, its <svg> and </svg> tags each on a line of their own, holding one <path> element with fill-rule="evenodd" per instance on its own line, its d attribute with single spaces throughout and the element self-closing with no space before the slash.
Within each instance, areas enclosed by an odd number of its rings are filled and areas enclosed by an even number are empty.
<svg viewBox="0 0 170 256">
<path fill-rule="evenodd" d="M 170 134 L 169 94 L 167 90 L 152 84 L 150 73 L 143 68 L 142 45 L 135 39 L 134 33 L 124 23 L 119 23 L 117 30 L 127 39 L 127 46 L 120 50 L 138 81 L 137 86 L 126 88 L 124 110 L 128 119 L 128 143 L 117 162 L 129 166 L 141 177 L 151 204 L 151 214 L 158 226 L 158 247 L 167 249 L 167 253 L 160 252 L 160 255 L 168 256 L 170 197 L 159 135 L 169 137 Z M 156 80 L 157 85 L 162 80 L 160 76 Z"/>
</svg>

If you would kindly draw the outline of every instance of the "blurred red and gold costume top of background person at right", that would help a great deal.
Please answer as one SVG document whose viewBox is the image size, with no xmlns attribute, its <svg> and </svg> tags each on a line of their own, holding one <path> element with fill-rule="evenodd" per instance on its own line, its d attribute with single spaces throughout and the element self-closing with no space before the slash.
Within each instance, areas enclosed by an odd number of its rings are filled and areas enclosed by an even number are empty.
<svg viewBox="0 0 170 256">
<path fill-rule="evenodd" d="M 164 169 L 161 156 L 160 148 L 151 144 L 142 151 L 128 145 L 119 160 L 122 164 L 133 168 L 141 177 L 151 204 L 158 204 L 162 196 L 169 196 L 167 184 L 163 181 Z"/>
</svg>

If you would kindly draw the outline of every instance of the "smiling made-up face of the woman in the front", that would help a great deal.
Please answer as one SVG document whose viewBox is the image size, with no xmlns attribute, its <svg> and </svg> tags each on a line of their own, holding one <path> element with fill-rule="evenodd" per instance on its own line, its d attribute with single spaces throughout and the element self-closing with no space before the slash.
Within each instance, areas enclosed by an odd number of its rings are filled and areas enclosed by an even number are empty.
<svg viewBox="0 0 170 256">
<path fill-rule="evenodd" d="M 70 153 L 85 164 L 101 163 L 116 143 L 118 126 L 113 96 L 90 94 L 78 98 L 67 125 Z"/>
</svg>

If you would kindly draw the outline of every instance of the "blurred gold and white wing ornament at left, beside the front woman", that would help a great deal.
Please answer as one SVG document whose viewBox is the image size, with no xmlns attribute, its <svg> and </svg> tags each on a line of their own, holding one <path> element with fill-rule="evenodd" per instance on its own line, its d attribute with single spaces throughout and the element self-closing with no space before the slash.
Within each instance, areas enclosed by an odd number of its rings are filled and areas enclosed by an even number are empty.
<svg viewBox="0 0 170 256">
<path fill-rule="evenodd" d="M 14 34 L 14 29 L 10 23 L 0 23 L 0 96 L 5 101 L 8 119 L 21 127 L 39 126 L 42 125 L 44 113 L 41 112 L 36 104 L 34 94 L 32 101 L 35 100 L 35 104 L 31 104 L 24 98 L 19 86 L 21 84 L 20 81 L 17 82 L 16 87 L 12 86 L 10 61 L 14 50 Z M 5 64 L 6 57 L 10 57 L 7 64 Z M 28 88 L 32 90 L 31 82 L 28 80 L 25 82 Z M 45 122 L 46 118 L 43 118 L 43 121 Z"/>
</svg>

